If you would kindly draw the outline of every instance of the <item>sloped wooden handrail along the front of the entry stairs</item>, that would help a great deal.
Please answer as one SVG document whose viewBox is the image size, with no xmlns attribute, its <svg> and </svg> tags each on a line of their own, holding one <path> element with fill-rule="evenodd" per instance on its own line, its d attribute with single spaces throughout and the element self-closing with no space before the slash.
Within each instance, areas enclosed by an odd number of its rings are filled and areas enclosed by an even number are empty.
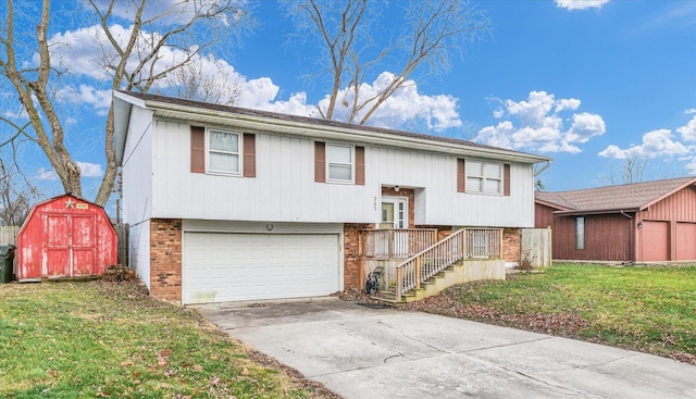
<svg viewBox="0 0 696 399">
<path fill-rule="evenodd" d="M 462 228 L 396 265 L 396 301 L 421 283 L 465 257 L 465 229 Z"/>
</svg>

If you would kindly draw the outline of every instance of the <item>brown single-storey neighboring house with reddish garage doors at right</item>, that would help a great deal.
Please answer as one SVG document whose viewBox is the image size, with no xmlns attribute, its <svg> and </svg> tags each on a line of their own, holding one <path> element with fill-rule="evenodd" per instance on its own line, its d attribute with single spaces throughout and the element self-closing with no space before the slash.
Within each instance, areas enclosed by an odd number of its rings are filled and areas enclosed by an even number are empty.
<svg viewBox="0 0 696 399">
<path fill-rule="evenodd" d="M 696 177 L 536 192 L 554 260 L 696 261 Z"/>
</svg>

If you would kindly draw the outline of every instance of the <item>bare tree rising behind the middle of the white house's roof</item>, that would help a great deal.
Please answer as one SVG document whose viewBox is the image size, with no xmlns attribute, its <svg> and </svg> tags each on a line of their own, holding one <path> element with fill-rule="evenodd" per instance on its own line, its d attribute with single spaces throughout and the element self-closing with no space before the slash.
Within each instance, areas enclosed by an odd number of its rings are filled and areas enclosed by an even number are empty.
<svg viewBox="0 0 696 399">
<path fill-rule="evenodd" d="M 410 0 L 396 2 L 402 24 L 397 32 L 380 32 L 380 7 L 369 0 L 283 0 L 298 33 L 296 38 L 314 39 L 322 53 L 321 73 L 328 77 L 328 101 L 319 107 L 322 117 L 336 119 L 336 111 L 348 109 L 346 122 L 364 124 L 371 115 L 422 66 L 427 74 L 449 67 L 451 52 L 490 34 L 490 20 L 465 0 Z M 405 8 L 401 8 L 405 7 Z M 395 14 L 389 15 L 394 17 Z M 377 46 L 380 37 L 386 45 Z M 363 84 L 375 77 L 373 71 L 391 67 L 389 82 L 365 93 Z M 384 71 L 384 70 L 383 70 Z M 344 89 L 345 88 L 345 89 Z"/>
</svg>

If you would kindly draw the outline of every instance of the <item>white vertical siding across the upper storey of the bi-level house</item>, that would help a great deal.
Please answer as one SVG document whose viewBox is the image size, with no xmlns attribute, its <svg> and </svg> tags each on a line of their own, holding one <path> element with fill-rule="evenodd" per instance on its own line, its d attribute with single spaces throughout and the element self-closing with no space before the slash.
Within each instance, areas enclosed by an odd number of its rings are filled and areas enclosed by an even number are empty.
<svg viewBox="0 0 696 399">
<path fill-rule="evenodd" d="M 148 174 L 152 187 L 137 192 L 133 192 L 136 187 L 128 188 L 130 200 L 139 197 L 141 204 L 130 208 L 135 221 L 147 205 L 152 217 L 165 219 L 376 223 L 382 215 L 382 186 L 399 185 L 415 191 L 417 225 L 534 226 L 532 165 L 510 165 L 510 179 L 518 183 L 509 197 L 462 195 L 457 192 L 457 157 L 365 146 L 364 185 L 316 184 L 314 139 L 257 130 L 252 132 L 257 177 L 227 178 L 227 174 L 190 173 L 188 162 L 182 161 L 190 157 L 190 124 L 156 120 L 152 126 L 154 154 L 146 160 L 153 162 Z M 124 185 L 133 182 L 124 179 Z"/>
</svg>

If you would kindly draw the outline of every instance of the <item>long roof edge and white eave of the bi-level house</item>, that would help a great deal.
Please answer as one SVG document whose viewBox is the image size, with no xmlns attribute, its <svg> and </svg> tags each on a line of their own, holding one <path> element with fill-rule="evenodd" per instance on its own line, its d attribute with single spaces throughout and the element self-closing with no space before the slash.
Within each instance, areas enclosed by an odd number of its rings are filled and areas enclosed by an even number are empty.
<svg viewBox="0 0 696 399">
<path fill-rule="evenodd" d="M 232 124 L 241 128 L 256 127 L 265 132 L 287 133 L 307 137 L 352 138 L 364 142 L 438 150 L 461 155 L 477 153 L 481 157 L 496 157 L 527 164 L 549 162 L 551 160 L 544 155 L 486 146 L 451 137 L 221 105 L 137 91 L 114 91 L 114 141 L 116 161 L 119 163 L 122 162 L 129 113 L 133 105 L 153 110 L 156 115 L 162 117 L 182 119 L 194 123 Z M 271 126 L 274 126 L 275 129 L 268 128 Z"/>
</svg>

